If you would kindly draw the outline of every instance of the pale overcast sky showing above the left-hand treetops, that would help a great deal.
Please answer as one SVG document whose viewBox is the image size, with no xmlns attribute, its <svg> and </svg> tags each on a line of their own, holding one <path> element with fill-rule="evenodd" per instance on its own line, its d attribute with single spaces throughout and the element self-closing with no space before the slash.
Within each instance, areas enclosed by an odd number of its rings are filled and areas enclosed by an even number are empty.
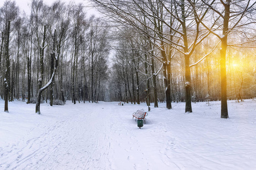
<svg viewBox="0 0 256 170">
<path fill-rule="evenodd" d="M 14 0 L 16 1 L 16 5 L 19 6 L 20 11 L 23 12 L 25 11 L 26 14 L 30 14 L 30 4 L 31 4 L 31 0 Z M 65 3 L 69 3 L 69 2 L 75 2 L 75 3 L 82 3 L 84 6 L 90 6 L 90 3 L 88 2 L 88 0 L 61 0 L 62 2 Z M 0 0 L 0 7 L 3 6 L 3 3 L 5 2 L 5 0 Z M 55 0 L 43 0 L 44 3 L 46 3 L 47 5 L 52 5 L 53 2 L 55 2 Z M 95 14 L 96 10 L 94 10 L 92 7 L 87 7 L 87 13 L 88 14 Z"/>
</svg>

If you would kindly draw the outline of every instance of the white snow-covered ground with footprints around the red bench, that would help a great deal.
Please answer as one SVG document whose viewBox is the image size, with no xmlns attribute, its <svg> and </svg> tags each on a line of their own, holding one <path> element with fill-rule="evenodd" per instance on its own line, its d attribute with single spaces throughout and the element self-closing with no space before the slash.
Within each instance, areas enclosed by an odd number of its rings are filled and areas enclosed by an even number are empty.
<svg viewBox="0 0 256 170">
<path fill-rule="evenodd" d="M 0 100 L 0 169 L 256 169 L 256 101 L 151 106 L 139 129 L 132 119 L 146 104 L 70 101 L 64 106 L 20 101 L 3 112 Z"/>
</svg>

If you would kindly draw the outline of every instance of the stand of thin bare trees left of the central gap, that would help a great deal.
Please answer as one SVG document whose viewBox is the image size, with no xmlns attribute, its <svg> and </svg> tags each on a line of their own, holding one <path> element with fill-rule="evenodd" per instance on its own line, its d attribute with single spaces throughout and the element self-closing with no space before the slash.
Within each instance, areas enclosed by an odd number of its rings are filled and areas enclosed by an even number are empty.
<svg viewBox="0 0 256 170">
<path fill-rule="evenodd" d="M 87 15 L 81 4 L 56 1 L 48 6 L 33 0 L 30 7 L 29 15 L 22 14 L 15 1 L 5 1 L 0 8 L 1 98 L 39 105 L 104 100 L 109 69 L 106 22 Z"/>
</svg>

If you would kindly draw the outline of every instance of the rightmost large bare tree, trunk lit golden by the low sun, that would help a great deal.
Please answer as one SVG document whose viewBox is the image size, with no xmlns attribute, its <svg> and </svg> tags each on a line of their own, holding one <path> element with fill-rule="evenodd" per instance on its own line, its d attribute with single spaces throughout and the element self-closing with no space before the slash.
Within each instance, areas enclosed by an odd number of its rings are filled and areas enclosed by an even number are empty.
<svg viewBox="0 0 256 170">
<path fill-rule="evenodd" d="M 189 0 L 191 6 L 194 7 L 195 15 L 200 23 L 208 29 L 209 32 L 213 33 L 221 42 L 220 49 L 220 73 L 221 73 L 221 118 L 228 118 L 228 104 L 227 104 L 227 94 L 226 94 L 226 50 L 229 45 L 231 46 L 243 46 L 247 42 L 255 41 L 255 36 L 246 35 L 245 39 L 247 41 L 240 42 L 237 44 L 229 44 L 229 36 L 232 33 L 240 33 L 243 27 L 249 27 L 251 24 L 255 25 L 255 1 L 231 1 L 231 0 L 220 0 L 217 2 L 215 0 L 204 1 L 201 0 L 197 4 Z M 201 8 L 201 5 L 209 8 L 214 17 L 213 22 L 209 22 L 207 18 L 203 20 L 200 17 L 199 12 L 196 12 L 196 8 Z M 213 18 L 213 15 L 209 15 Z M 251 27 L 252 28 L 252 27 Z M 221 29 L 221 33 L 220 33 Z M 242 35 L 245 32 L 242 32 Z"/>
</svg>

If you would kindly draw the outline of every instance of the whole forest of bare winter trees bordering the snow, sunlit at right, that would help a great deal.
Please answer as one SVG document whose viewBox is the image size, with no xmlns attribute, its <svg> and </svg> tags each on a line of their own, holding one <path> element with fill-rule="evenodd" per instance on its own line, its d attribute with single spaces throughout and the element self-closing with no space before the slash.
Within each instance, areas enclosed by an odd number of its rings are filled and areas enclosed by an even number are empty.
<svg viewBox="0 0 256 170">
<path fill-rule="evenodd" d="M 39 105 L 226 100 L 256 96 L 256 2 L 240 0 L 32 0 L 0 7 L 0 95 Z M 49 87 L 49 88 L 47 88 Z M 63 102 L 63 103 L 61 103 Z"/>
</svg>

